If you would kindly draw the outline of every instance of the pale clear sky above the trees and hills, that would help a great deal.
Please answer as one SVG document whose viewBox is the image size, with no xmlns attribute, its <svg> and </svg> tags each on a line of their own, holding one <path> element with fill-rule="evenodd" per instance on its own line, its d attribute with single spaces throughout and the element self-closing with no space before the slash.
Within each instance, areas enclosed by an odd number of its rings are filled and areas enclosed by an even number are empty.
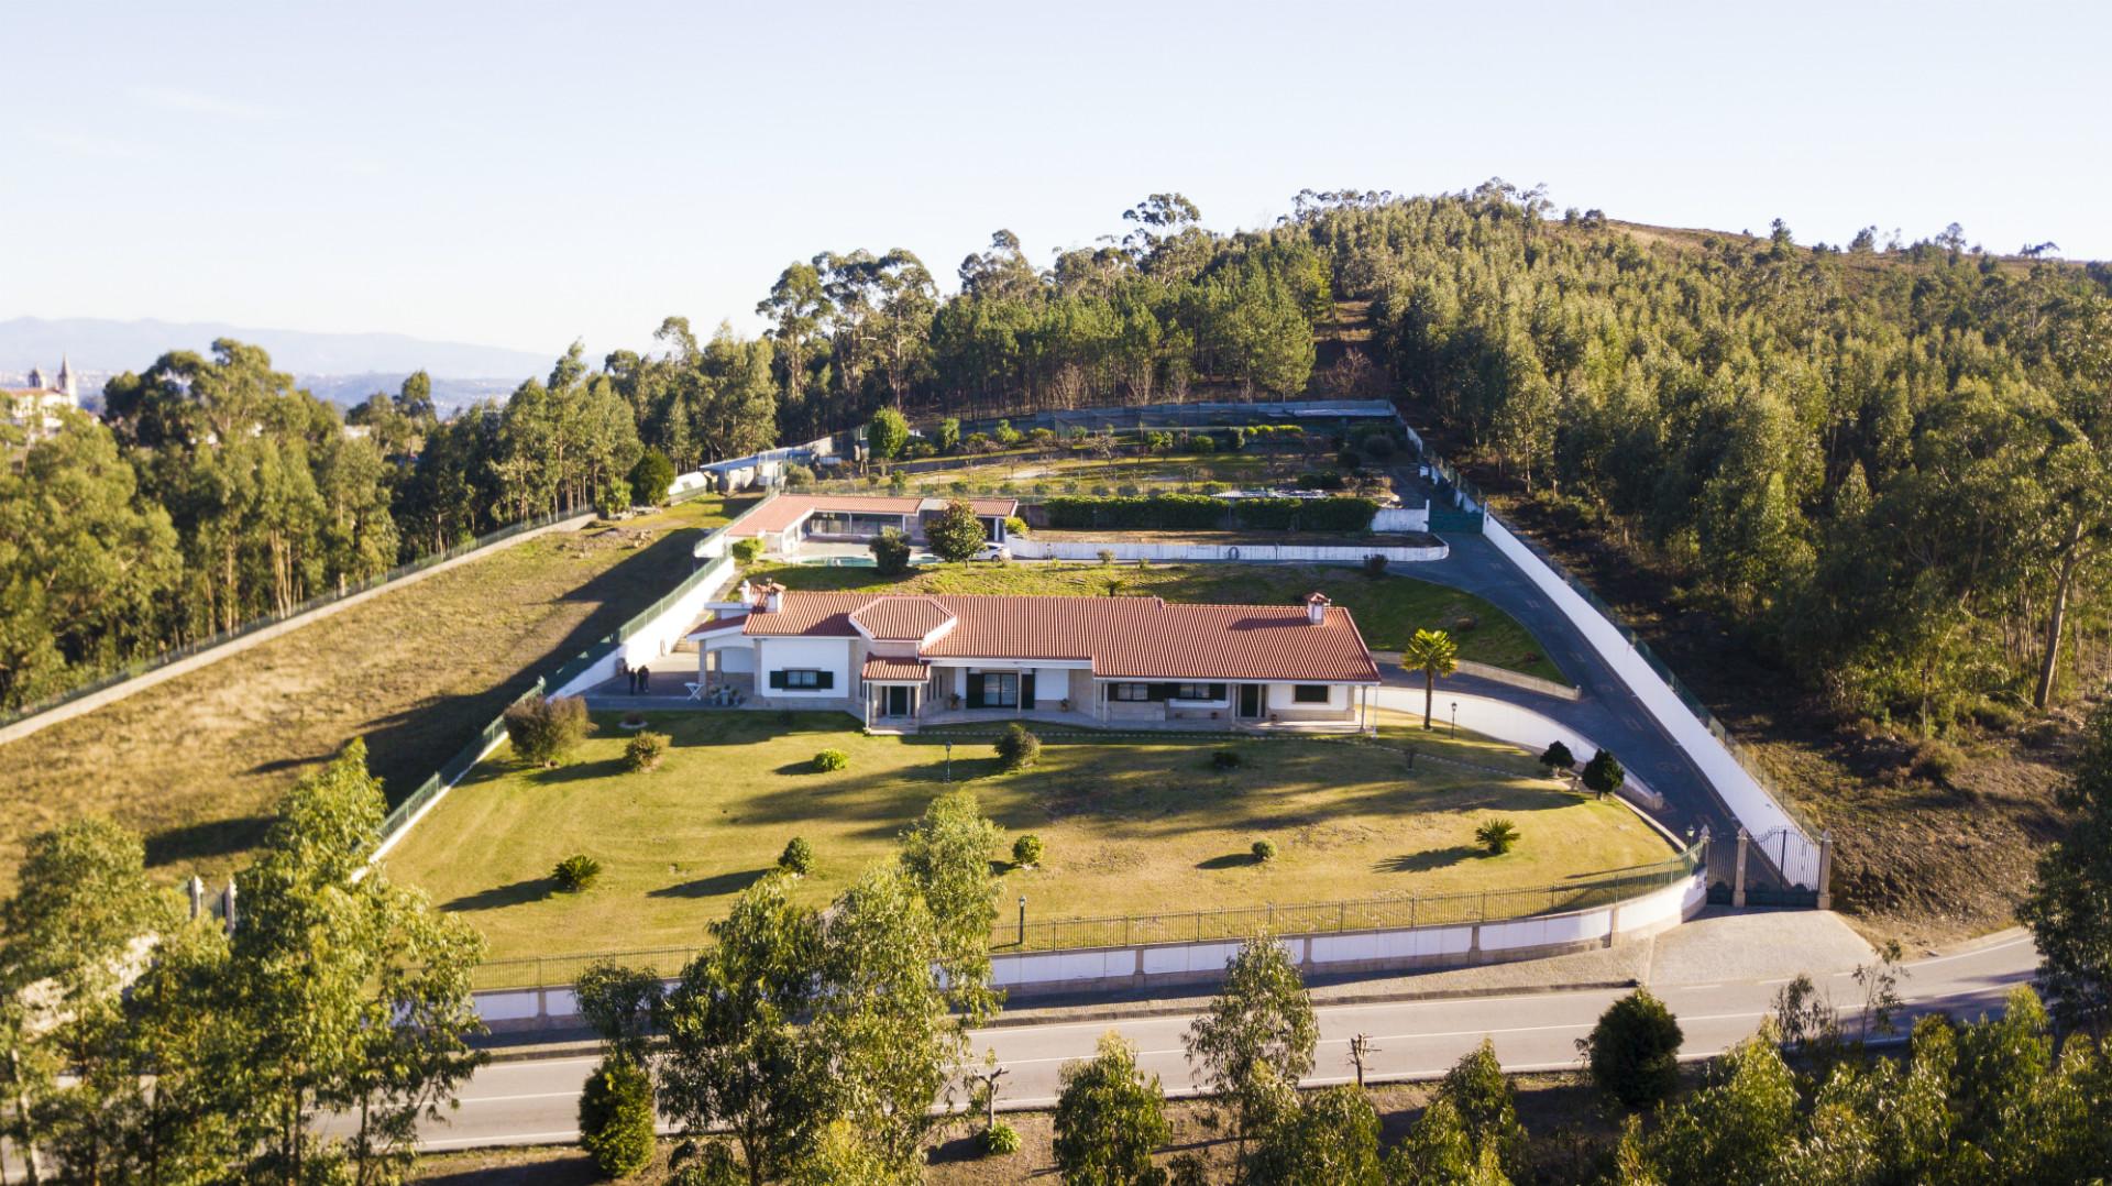
<svg viewBox="0 0 2112 1186">
<path fill-rule="evenodd" d="M 754 330 L 777 271 L 950 285 L 1153 190 L 1459 190 L 1846 241 L 2112 256 L 2112 6 L 0 6 L 0 317 L 393 330 L 593 355 Z"/>
</svg>

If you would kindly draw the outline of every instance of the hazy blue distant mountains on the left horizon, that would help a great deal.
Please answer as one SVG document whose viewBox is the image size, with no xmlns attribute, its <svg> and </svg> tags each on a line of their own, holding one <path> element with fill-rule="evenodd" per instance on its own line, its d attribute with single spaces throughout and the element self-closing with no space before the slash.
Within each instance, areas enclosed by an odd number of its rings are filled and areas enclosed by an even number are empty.
<svg viewBox="0 0 2112 1186">
<path fill-rule="evenodd" d="M 270 351 L 272 366 L 294 372 L 323 400 L 357 404 L 374 391 L 395 391 L 403 376 L 433 376 L 433 402 L 473 404 L 501 395 L 530 376 L 547 374 L 562 349 L 509 351 L 471 342 L 429 342 L 406 334 L 313 334 L 258 330 L 218 321 L 110 321 L 101 317 L 15 317 L 0 321 L 0 374 L 44 374 L 70 359 L 82 395 L 101 391 L 103 378 L 146 370 L 169 351 L 207 353 L 215 338 L 239 338 Z"/>
</svg>

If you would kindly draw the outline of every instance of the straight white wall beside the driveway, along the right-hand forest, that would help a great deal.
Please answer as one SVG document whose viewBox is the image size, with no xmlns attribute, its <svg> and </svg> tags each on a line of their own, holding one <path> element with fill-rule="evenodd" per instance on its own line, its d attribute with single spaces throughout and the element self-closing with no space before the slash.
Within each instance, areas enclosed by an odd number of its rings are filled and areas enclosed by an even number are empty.
<svg viewBox="0 0 2112 1186">
<path fill-rule="evenodd" d="M 1643 702 L 1643 708 L 1656 717 L 1658 725 L 1671 734 L 1673 742 L 1687 753 L 1687 759 L 1702 772 L 1702 778 L 1715 786 L 1723 805 L 1730 814 L 1738 818 L 1738 824 L 1755 835 L 1768 835 L 1772 831 L 1785 829 L 1791 844 L 1783 852 L 1783 877 L 1799 886 L 1818 884 L 1818 846 L 1812 837 L 1797 827 L 1797 820 L 1789 818 L 1789 812 L 1774 801 L 1774 795 L 1761 786 L 1745 765 L 1732 757 L 1730 748 L 1723 746 L 1702 725 L 1679 693 L 1673 691 L 1668 683 L 1635 651 L 1622 632 L 1607 622 L 1603 613 L 1592 609 L 1554 569 L 1550 569 L 1531 548 L 1519 541 L 1495 516 L 1487 516 L 1485 535 L 1495 543 L 1497 552 L 1510 558 L 1519 571 L 1525 573 L 1540 592 L 1548 594 L 1548 600 L 1567 617 L 1590 643 L 1599 657 L 1614 668 L 1614 674 L 1628 685 L 1628 691 Z M 1464 708 L 1462 700 L 1462 708 Z M 1495 736 L 1495 734 L 1491 734 Z"/>
</svg>

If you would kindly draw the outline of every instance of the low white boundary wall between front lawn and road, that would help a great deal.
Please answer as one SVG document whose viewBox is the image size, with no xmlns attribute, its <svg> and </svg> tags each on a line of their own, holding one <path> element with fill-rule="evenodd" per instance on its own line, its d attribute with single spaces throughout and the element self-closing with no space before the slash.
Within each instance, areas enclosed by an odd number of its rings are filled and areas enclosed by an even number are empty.
<svg viewBox="0 0 2112 1186">
<path fill-rule="evenodd" d="M 1280 943 L 1307 977 L 1502 964 L 1647 939 L 1694 918 L 1706 901 L 1706 875 L 1696 871 L 1635 898 L 1580 911 L 1455 926 L 1345 930 L 1286 937 Z M 1236 939 L 1208 939 L 997 953 L 991 958 L 991 983 L 1014 998 L 1217 983 L 1238 951 Z M 577 1023 L 579 1013 L 570 985 L 479 992 L 475 1006 L 484 1023 L 501 1032 L 568 1025 Z"/>
</svg>

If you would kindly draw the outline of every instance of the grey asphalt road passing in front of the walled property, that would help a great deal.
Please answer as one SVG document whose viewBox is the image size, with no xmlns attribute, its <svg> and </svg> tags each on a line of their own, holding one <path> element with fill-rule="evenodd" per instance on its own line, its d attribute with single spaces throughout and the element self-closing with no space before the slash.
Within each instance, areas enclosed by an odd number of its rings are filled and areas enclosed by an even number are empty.
<svg viewBox="0 0 2112 1186">
<path fill-rule="evenodd" d="M 1970 1019 L 1998 1011 L 2009 989 L 2032 979 L 2036 962 L 2030 937 L 2004 932 L 1973 949 L 1907 964 L 1901 996 L 1909 1019 L 1926 1013 Z M 1852 1032 L 1861 1006 L 1854 979 L 1848 972 L 1816 979 Z M 1787 981 L 1656 985 L 1654 992 L 1679 1015 L 1683 1057 L 1698 1059 L 1751 1036 L 1783 983 Z M 1347 1082 L 1347 1049 L 1356 1034 L 1369 1034 L 1377 1046 L 1366 1063 L 1366 1078 L 1373 1080 L 1440 1076 L 1483 1036 L 1495 1040 L 1506 1070 L 1569 1070 L 1578 1065 L 1576 1040 L 1622 994 L 1624 989 L 1580 989 L 1320 1006 L 1320 1049 L 1305 1082 Z M 1136 1044 L 1140 1065 L 1164 1080 L 1168 1095 L 1191 1095 L 1195 1087 L 1181 1046 L 1189 1021 L 1191 1015 L 997 1025 L 974 1034 L 974 1051 L 978 1059 L 986 1049 L 997 1051 L 997 1059 L 1012 1072 L 999 1085 L 1001 1108 L 1052 1106 L 1062 1063 L 1092 1057 L 1107 1030 L 1117 1030 Z M 467 1085 L 452 1120 L 427 1125 L 422 1144 L 429 1150 L 456 1150 L 572 1142 L 579 1137 L 579 1089 L 593 1061 L 555 1057 L 492 1063 Z"/>
</svg>

